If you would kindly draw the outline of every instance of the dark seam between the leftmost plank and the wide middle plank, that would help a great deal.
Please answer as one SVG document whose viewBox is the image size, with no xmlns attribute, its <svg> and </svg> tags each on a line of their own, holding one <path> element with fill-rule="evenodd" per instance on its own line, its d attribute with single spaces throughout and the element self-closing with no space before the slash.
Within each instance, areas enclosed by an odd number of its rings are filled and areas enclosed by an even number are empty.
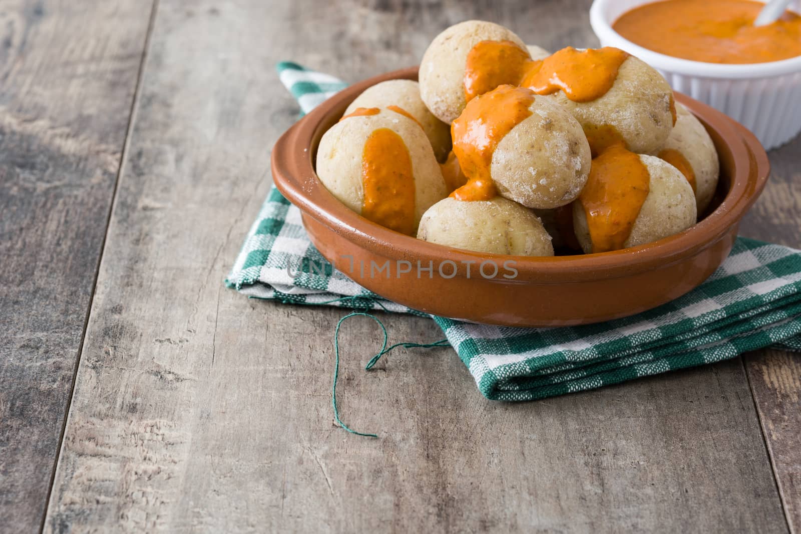
<svg viewBox="0 0 801 534">
<path fill-rule="evenodd" d="M 66 404 L 64 406 L 64 417 L 62 419 L 62 426 L 61 432 L 58 434 L 58 450 L 56 451 L 55 457 L 53 459 L 53 466 L 50 468 L 50 483 L 47 484 L 47 496 L 45 499 L 46 506 L 44 513 L 42 514 L 42 520 L 39 523 L 39 532 L 43 532 L 45 528 L 45 522 L 47 519 L 47 513 L 50 511 L 50 496 L 53 493 L 53 482 L 55 479 L 55 471 L 58 467 L 58 459 L 61 457 L 61 450 L 64 444 L 64 433 L 66 432 L 66 424 L 70 418 L 70 407 L 72 405 L 72 395 L 75 391 L 75 379 L 78 378 L 78 367 L 81 363 L 81 355 L 83 354 L 83 345 L 87 341 L 87 325 L 89 324 L 89 317 L 91 316 L 92 310 L 92 303 L 95 301 L 95 291 L 97 291 L 97 283 L 98 283 L 98 275 L 100 271 L 100 265 L 103 263 L 103 252 L 106 250 L 106 241 L 108 239 L 108 229 L 109 223 L 111 223 L 111 214 L 114 213 L 114 208 L 117 203 L 117 187 L 119 185 L 119 177 L 123 174 L 123 169 L 125 167 L 125 157 L 128 153 L 128 149 L 131 144 L 131 130 L 133 129 L 134 122 L 135 122 L 135 115 L 136 115 L 136 108 L 139 104 L 139 89 L 142 86 L 142 77 L 144 74 L 144 67 L 145 63 L 147 62 L 147 50 L 150 49 L 150 42 L 151 42 L 151 34 L 153 33 L 153 25 L 155 22 L 156 10 L 158 8 L 159 0 L 153 0 L 151 5 L 151 14 L 150 18 L 147 21 L 147 32 L 145 34 L 145 42 L 142 47 L 142 54 L 139 58 L 139 70 L 136 73 L 136 83 L 134 86 L 134 98 L 131 99 L 131 111 L 128 114 L 128 123 L 125 129 L 125 139 L 123 139 L 123 150 L 119 155 L 119 165 L 117 167 L 117 175 L 115 176 L 114 181 L 114 189 L 111 192 L 111 206 L 109 207 L 107 216 L 106 216 L 106 231 L 103 235 L 103 243 L 100 245 L 100 254 L 98 255 L 98 261 L 95 265 L 95 272 L 94 275 L 94 283 L 92 283 L 92 291 L 89 297 L 89 303 L 87 305 L 87 312 L 83 318 L 83 334 L 81 335 L 81 343 L 78 345 L 78 355 L 75 358 L 74 367 L 72 370 L 72 385 L 70 386 L 70 394 L 67 395 Z"/>
</svg>

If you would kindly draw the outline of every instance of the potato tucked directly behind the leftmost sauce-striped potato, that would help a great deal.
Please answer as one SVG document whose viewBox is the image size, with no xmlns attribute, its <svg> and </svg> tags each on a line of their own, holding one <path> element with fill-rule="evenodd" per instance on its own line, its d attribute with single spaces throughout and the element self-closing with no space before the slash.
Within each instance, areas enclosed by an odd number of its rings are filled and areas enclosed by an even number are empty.
<svg viewBox="0 0 801 534">
<path fill-rule="evenodd" d="M 420 86 L 413 80 L 387 80 L 364 90 L 351 102 L 345 114 L 357 107 L 398 106 L 406 110 L 423 126 L 437 160 L 444 162 L 450 151 L 450 126 L 435 117 L 420 98 Z"/>
</svg>

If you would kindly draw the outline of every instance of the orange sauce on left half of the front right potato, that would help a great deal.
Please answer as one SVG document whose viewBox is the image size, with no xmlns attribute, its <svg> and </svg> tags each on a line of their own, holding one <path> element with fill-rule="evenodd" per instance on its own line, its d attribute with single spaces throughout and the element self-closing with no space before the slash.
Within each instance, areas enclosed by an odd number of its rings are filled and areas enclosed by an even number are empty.
<svg viewBox="0 0 801 534">
<path fill-rule="evenodd" d="M 649 184 L 648 168 L 622 143 L 606 148 L 593 159 L 590 178 L 578 196 L 593 252 L 624 247 L 650 191 Z"/>
</svg>

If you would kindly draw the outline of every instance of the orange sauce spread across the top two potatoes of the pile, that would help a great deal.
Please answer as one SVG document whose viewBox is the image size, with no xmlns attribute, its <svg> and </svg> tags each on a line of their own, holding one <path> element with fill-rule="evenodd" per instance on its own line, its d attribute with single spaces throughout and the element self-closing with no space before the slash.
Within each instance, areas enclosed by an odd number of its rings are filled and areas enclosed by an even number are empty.
<svg viewBox="0 0 801 534">
<path fill-rule="evenodd" d="M 568 46 L 534 61 L 514 42 L 481 41 L 465 62 L 465 100 L 508 84 L 528 87 L 537 94 L 562 90 L 574 102 L 590 102 L 610 90 L 628 57 L 627 52 L 611 46 L 588 50 Z"/>
</svg>

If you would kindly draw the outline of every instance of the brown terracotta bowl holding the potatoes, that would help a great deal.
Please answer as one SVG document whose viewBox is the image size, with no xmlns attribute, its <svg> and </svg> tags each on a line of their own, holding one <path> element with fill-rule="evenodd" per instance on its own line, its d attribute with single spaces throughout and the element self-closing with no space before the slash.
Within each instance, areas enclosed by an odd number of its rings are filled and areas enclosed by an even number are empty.
<svg viewBox="0 0 801 534">
<path fill-rule="evenodd" d="M 314 170 L 320 137 L 348 104 L 368 86 L 396 78 L 417 79 L 417 68 L 356 83 L 302 118 L 276 143 L 272 176 L 300 208 L 312 243 L 337 269 L 378 295 L 434 315 L 554 327 L 657 307 L 697 287 L 726 259 L 740 219 L 767 180 L 767 155 L 754 135 L 719 111 L 676 94 L 706 126 L 720 157 L 718 205 L 689 230 L 623 251 L 550 258 L 426 243 L 356 215 L 323 187 Z"/>
</svg>

